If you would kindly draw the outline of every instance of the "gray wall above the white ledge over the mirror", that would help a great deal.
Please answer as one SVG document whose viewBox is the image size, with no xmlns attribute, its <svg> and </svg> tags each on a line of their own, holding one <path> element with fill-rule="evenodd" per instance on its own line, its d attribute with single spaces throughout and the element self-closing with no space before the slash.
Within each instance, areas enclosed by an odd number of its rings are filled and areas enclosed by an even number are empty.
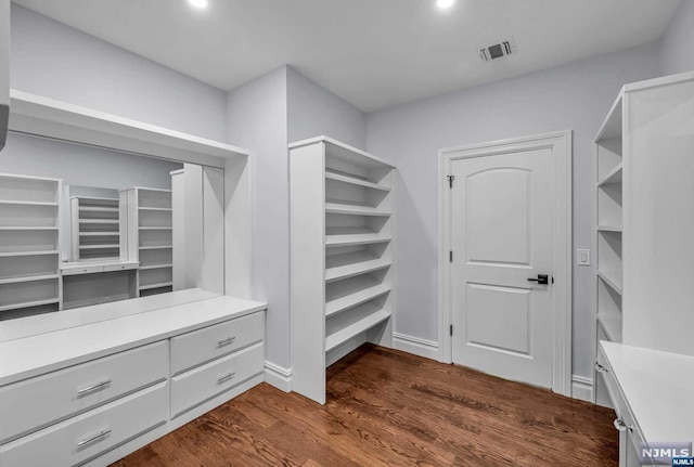
<svg viewBox="0 0 694 467">
<path fill-rule="evenodd" d="M 226 93 L 12 3 L 14 89 L 223 141 Z"/>
</svg>

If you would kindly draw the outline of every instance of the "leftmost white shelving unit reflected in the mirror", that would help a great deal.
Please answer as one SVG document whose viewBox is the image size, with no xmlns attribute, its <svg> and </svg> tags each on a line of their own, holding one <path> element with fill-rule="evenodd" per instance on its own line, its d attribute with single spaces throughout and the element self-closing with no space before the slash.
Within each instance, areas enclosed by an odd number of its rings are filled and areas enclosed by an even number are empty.
<svg viewBox="0 0 694 467">
<path fill-rule="evenodd" d="M 0 320 L 61 309 L 62 181 L 0 173 Z"/>
</svg>

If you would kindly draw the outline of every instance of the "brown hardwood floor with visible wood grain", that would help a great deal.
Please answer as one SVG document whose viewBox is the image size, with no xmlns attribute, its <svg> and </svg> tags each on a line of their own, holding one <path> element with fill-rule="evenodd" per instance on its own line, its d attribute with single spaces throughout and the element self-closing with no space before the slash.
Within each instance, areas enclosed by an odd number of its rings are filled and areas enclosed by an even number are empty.
<svg viewBox="0 0 694 467">
<path fill-rule="evenodd" d="M 262 384 L 114 465 L 618 465 L 614 413 L 586 402 L 374 346 L 327 373 L 324 406 Z"/>
</svg>

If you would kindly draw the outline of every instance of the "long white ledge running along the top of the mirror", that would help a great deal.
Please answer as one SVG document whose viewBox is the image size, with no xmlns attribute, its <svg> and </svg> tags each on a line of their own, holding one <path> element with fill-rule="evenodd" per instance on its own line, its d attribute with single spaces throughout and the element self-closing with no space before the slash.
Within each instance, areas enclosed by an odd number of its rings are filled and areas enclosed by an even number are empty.
<svg viewBox="0 0 694 467">
<path fill-rule="evenodd" d="M 143 124 L 61 101 L 10 91 L 9 130 L 126 153 L 223 168 L 248 152 L 218 141 Z"/>
</svg>

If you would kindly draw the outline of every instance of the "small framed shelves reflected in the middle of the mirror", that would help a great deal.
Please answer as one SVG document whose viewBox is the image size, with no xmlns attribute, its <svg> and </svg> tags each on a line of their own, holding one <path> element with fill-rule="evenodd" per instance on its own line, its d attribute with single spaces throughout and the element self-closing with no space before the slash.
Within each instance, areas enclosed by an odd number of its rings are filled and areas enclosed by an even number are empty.
<svg viewBox="0 0 694 467">
<path fill-rule="evenodd" d="M 117 260 L 120 258 L 119 200 L 72 197 L 72 261 Z"/>
</svg>

